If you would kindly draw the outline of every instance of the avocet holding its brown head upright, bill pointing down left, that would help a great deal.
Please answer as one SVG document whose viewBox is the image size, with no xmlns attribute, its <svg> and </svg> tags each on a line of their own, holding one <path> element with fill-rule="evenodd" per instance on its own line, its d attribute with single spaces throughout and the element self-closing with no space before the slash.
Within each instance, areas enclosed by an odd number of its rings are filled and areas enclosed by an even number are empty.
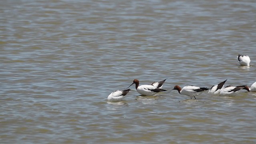
<svg viewBox="0 0 256 144">
<path fill-rule="evenodd" d="M 153 85 L 145 84 L 145 85 L 139 86 L 139 80 L 137 80 L 137 79 L 134 79 L 132 84 L 135 84 L 135 88 L 136 88 L 137 92 L 144 95 L 144 96 L 153 96 L 153 95 L 157 94 L 158 92 L 166 91 L 166 90 L 161 89 L 161 88 L 156 88 Z M 132 84 L 130 86 L 132 86 Z"/>
</svg>

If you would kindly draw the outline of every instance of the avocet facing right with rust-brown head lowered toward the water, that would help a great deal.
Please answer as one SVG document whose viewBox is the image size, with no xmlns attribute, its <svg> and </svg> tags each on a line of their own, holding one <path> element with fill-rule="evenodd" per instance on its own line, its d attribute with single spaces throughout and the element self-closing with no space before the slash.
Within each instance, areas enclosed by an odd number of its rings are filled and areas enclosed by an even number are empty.
<svg viewBox="0 0 256 144">
<path fill-rule="evenodd" d="M 229 85 L 220 91 L 220 96 L 236 96 L 237 94 L 239 94 L 241 92 L 242 89 L 245 89 L 248 92 L 250 92 L 249 87 L 246 85 L 244 85 L 244 86 Z"/>
</svg>

